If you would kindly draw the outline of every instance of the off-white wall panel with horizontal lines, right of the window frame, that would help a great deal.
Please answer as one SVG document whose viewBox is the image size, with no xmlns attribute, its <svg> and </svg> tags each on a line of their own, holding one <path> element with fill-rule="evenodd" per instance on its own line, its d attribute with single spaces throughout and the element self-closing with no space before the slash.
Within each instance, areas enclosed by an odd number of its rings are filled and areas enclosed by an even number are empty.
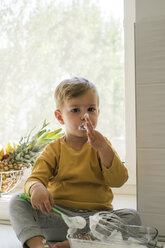
<svg viewBox="0 0 165 248">
<path fill-rule="evenodd" d="M 165 235 L 165 1 L 135 9 L 137 206 Z"/>
</svg>

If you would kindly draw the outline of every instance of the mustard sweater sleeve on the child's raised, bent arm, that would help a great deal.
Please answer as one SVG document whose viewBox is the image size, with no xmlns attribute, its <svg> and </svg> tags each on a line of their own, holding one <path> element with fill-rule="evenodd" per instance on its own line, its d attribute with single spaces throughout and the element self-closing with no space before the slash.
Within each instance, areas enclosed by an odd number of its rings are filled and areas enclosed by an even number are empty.
<svg viewBox="0 0 165 248">
<path fill-rule="evenodd" d="M 109 140 L 107 140 L 107 142 L 112 147 Z M 107 168 L 103 164 L 101 167 L 105 182 L 110 187 L 121 187 L 128 180 L 128 170 L 121 162 L 116 151 L 114 151 L 114 158 L 111 167 Z"/>
</svg>

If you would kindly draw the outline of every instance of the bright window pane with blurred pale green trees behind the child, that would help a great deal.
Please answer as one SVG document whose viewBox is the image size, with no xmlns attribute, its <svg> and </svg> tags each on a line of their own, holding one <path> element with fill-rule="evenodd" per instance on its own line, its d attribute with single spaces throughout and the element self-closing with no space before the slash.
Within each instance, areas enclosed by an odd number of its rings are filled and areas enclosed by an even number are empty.
<svg viewBox="0 0 165 248">
<path fill-rule="evenodd" d="M 0 4 L 0 144 L 54 118 L 54 90 L 73 76 L 100 94 L 100 130 L 125 160 L 123 0 Z"/>
</svg>

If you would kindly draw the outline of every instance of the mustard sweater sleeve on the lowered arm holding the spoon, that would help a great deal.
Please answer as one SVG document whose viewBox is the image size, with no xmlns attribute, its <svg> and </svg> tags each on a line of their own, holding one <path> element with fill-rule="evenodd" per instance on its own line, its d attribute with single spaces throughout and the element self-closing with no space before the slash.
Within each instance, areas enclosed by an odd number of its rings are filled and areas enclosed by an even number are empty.
<svg viewBox="0 0 165 248">
<path fill-rule="evenodd" d="M 37 182 L 42 183 L 47 187 L 52 176 L 55 176 L 57 170 L 57 150 L 58 145 L 54 142 L 49 144 L 39 158 L 36 160 L 31 175 L 24 184 L 24 192 L 29 195 L 31 186 Z"/>
</svg>

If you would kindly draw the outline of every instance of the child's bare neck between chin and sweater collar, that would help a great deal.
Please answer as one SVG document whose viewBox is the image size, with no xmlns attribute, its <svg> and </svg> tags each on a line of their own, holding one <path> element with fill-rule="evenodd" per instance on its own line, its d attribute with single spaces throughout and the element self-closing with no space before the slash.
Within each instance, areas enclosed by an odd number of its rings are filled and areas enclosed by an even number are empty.
<svg viewBox="0 0 165 248">
<path fill-rule="evenodd" d="M 83 145 L 87 142 L 86 137 L 76 137 L 76 136 L 65 136 L 65 142 L 71 146 L 74 150 L 79 151 Z"/>
</svg>

